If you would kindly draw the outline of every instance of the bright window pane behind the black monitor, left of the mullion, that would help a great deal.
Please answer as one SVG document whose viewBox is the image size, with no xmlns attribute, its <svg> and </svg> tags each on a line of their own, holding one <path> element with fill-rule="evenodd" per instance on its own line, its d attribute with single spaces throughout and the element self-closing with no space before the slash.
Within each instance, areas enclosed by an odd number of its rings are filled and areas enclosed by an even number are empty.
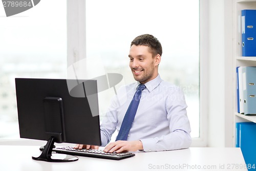
<svg viewBox="0 0 256 171">
<path fill-rule="evenodd" d="M 63 0 L 44 0 L 10 17 L 0 9 L 0 139 L 19 137 L 16 77 L 66 78 L 66 8 Z"/>
</svg>

